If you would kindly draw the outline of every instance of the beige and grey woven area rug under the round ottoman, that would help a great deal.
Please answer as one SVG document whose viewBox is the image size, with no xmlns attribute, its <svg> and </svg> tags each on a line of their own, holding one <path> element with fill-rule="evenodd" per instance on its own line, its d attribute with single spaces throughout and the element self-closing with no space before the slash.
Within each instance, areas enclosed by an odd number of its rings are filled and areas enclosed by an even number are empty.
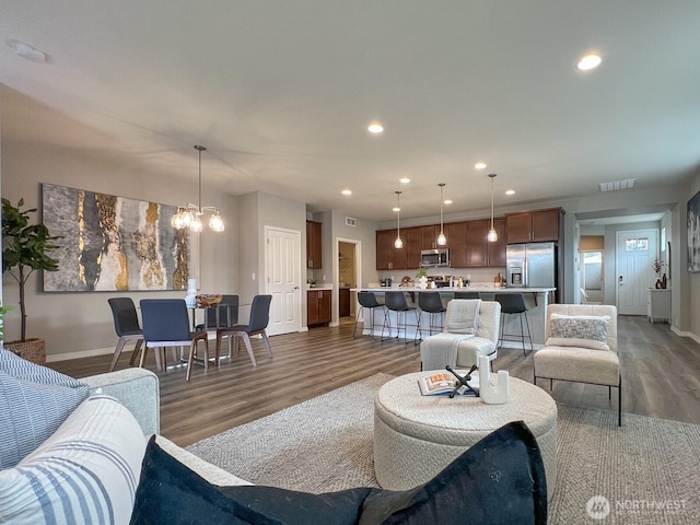
<svg viewBox="0 0 700 525">
<path fill-rule="evenodd" d="M 378 487 L 376 374 L 187 447 L 257 485 L 310 492 Z M 558 405 L 551 524 L 700 523 L 700 425 Z"/>
</svg>

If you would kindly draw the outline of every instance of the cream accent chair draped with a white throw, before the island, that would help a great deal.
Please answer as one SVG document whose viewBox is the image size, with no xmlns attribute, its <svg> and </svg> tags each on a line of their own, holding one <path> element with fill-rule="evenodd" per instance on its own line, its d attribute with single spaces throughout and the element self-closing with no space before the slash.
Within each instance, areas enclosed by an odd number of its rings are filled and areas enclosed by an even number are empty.
<svg viewBox="0 0 700 525">
<path fill-rule="evenodd" d="M 447 364 L 452 368 L 469 369 L 477 364 L 479 355 L 487 355 L 493 366 L 493 360 L 498 357 L 501 305 L 495 301 L 481 301 L 477 332 L 469 339 L 463 339 L 462 334 L 450 332 L 450 325 L 455 320 L 453 319 L 454 308 L 451 306 L 455 301 L 472 300 L 453 299 L 447 303 L 445 331 L 425 338 L 420 345 L 421 370 L 444 370 Z M 454 337 L 448 337 L 451 335 Z M 433 352 L 435 341 L 441 341 L 440 345 L 444 345 L 445 348 Z M 444 355 L 451 353 L 446 351 L 447 347 L 452 348 L 455 343 L 457 345 L 456 355 L 452 352 L 454 359 L 445 359 Z"/>
</svg>

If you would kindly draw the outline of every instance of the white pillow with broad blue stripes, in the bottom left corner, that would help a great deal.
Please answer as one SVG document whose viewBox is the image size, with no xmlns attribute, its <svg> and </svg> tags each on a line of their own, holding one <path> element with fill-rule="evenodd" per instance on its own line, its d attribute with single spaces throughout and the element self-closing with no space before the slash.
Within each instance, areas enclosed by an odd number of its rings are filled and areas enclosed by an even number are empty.
<svg viewBox="0 0 700 525">
<path fill-rule="evenodd" d="M 0 471 L 0 522 L 128 524 L 145 445 L 122 405 L 86 399 L 36 451 Z"/>
</svg>

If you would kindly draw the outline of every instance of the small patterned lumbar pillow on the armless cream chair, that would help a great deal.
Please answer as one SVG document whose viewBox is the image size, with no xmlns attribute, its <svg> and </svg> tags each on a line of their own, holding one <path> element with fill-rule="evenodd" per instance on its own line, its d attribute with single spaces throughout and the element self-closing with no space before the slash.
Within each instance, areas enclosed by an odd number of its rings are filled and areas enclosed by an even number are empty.
<svg viewBox="0 0 700 525">
<path fill-rule="evenodd" d="M 609 320 L 609 315 L 551 314 L 546 346 L 610 350 L 607 343 Z"/>
</svg>

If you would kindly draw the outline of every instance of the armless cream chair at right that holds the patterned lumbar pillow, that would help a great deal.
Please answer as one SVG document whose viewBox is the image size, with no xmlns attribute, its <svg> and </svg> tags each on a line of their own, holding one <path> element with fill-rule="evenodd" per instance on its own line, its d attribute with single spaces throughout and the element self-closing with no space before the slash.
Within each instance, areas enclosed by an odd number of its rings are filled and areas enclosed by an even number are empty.
<svg viewBox="0 0 700 525">
<path fill-rule="evenodd" d="M 550 345 L 551 315 L 595 315 L 609 316 L 607 346 L 609 350 L 597 350 L 578 346 Z M 620 359 L 617 353 L 617 308 L 605 304 L 550 304 L 547 307 L 545 347 L 535 352 L 534 383 L 537 377 L 552 381 L 571 381 L 608 387 L 611 398 L 612 387 L 618 388 L 618 425 L 622 424 L 622 377 Z"/>
</svg>

